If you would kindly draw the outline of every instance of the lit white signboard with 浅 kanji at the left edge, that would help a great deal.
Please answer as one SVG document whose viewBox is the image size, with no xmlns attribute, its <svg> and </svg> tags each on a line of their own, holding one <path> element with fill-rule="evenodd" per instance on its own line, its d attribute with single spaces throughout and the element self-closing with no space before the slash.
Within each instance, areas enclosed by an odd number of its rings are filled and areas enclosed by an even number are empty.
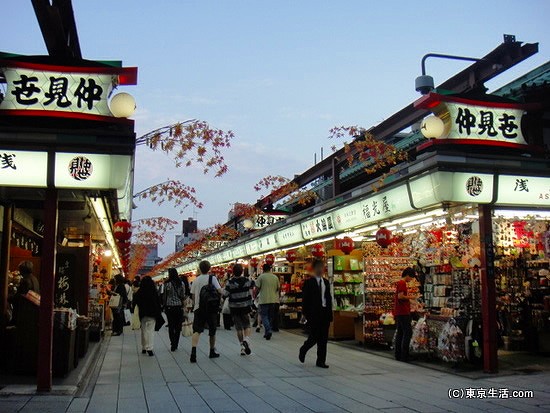
<svg viewBox="0 0 550 413">
<path fill-rule="evenodd" d="M 47 185 L 48 153 L 0 149 L 0 186 Z"/>
</svg>

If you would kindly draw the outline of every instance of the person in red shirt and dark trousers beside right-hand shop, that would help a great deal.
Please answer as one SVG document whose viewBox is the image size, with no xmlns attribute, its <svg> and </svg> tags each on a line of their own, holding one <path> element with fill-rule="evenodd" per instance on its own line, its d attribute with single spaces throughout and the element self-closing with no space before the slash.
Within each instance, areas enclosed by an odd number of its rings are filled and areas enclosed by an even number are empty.
<svg viewBox="0 0 550 413">
<path fill-rule="evenodd" d="M 409 346 L 411 344 L 411 300 L 417 297 L 408 295 L 407 283 L 415 278 L 416 272 L 413 268 L 407 267 L 401 274 L 401 279 L 395 285 L 395 306 L 393 315 L 397 324 L 395 333 L 395 359 L 409 361 Z"/>
</svg>

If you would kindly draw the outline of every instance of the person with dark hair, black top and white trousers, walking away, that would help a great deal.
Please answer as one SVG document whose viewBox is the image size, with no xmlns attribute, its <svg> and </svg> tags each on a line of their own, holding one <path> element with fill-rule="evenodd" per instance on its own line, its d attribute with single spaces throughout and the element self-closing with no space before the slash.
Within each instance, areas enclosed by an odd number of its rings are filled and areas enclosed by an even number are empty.
<svg viewBox="0 0 550 413">
<path fill-rule="evenodd" d="M 143 277 L 139 290 L 134 296 L 134 305 L 139 308 L 141 322 L 141 354 L 154 356 L 155 324 L 161 315 L 160 299 L 157 287 L 149 276 Z"/>
</svg>

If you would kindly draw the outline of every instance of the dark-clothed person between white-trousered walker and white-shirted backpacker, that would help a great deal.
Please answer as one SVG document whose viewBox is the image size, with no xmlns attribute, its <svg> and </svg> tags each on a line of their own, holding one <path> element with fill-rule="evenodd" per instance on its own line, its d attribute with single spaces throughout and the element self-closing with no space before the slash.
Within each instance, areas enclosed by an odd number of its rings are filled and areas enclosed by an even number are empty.
<svg viewBox="0 0 550 413">
<path fill-rule="evenodd" d="M 180 342 L 184 318 L 185 286 L 175 268 L 168 269 L 168 281 L 164 283 L 163 306 L 168 319 L 170 351 L 176 351 Z"/>
</svg>

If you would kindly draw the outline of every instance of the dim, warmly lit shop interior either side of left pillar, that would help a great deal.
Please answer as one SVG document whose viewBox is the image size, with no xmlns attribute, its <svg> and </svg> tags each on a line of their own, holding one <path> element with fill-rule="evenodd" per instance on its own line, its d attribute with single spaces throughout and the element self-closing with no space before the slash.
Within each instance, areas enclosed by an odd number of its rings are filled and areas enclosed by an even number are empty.
<svg viewBox="0 0 550 413">
<path fill-rule="evenodd" d="M 21 295 L 19 265 L 32 263 L 40 279 L 44 248 L 44 194 L 40 189 L 2 188 L 0 208 L 2 281 L 5 306 L 0 371 L 35 375 L 40 293 Z M 110 222 L 109 192 L 59 191 L 54 295 L 53 376 L 63 377 L 86 356 L 90 341 L 99 341 L 109 321 L 108 282 L 120 272 L 121 257 Z M 116 199 L 116 198 L 114 198 Z"/>
</svg>

